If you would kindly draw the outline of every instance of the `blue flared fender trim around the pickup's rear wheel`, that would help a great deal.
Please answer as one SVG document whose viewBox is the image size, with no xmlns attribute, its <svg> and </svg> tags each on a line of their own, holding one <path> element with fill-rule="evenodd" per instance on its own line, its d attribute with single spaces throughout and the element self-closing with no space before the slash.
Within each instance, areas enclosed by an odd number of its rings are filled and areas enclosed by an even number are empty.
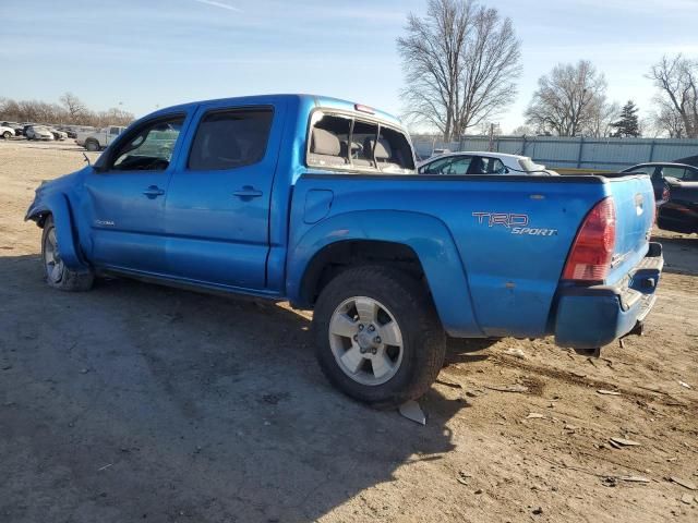
<svg viewBox="0 0 698 523">
<path fill-rule="evenodd" d="M 456 244 L 441 220 L 419 212 L 365 210 L 335 215 L 301 229 L 300 238 L 292 238 L 287 264 L 286 290 L 291 301 L 302 301 L 305 270 L 327 245 L 356 240 L 392 242 L 407 245 L 417 254 L 446 331 L 459 338 L 484 337 Z"/>
</svg>

